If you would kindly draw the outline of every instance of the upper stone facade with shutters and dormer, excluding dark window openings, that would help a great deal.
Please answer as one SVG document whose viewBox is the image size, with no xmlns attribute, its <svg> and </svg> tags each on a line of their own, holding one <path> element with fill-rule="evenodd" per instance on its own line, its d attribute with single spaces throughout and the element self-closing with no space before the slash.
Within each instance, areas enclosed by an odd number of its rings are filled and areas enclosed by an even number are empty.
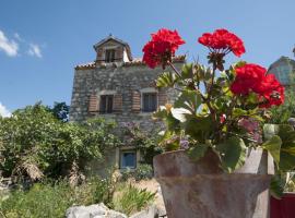
<svg viewBox="0 0 295 218">
<path fill-rule="evenodd" d="M 115 45 L 118 45 L 116 47 Z M 105 47 L 114 47 L 118 58 L 111 63 L 104 62 Z M 103 116 L 114 119 L 117 123 L 134 122 L 149 131 L 155 125 L 151 119 L 152 112 L 142 111 L 142 95 L 155 93 L 157 106 L 174 101 L 175 89 L 155 88 L 155 80 L 163 72 L 161 68 L 149 69 L 140 59 L 123 59 L 127 52 L 120 43 L 113 38 L 96 48 L 96 61 L 75 66 L 72 100 L 70 109 L 71 121 L 83 121 L 91 117 Z M 130 49 L 129 49 L 130 52 Z M 176 68 L 180 69 L 185 57 L 174 59 Z M 99 97 L 114 95 L 113 112 L 99 112 Z"/>
</svg>

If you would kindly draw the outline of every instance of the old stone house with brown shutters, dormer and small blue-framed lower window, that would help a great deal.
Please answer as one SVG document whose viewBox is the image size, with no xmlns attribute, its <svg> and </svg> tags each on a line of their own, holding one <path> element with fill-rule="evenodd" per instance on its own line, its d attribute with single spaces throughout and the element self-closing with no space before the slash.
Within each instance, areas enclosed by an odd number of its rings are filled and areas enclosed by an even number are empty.
<svg viewBox="0 0 295 218">
<path fill-rule="evenodd" d="M 151 119 L 152 112 L 174 101 L 177 95 L 174 89 L 155 87 L 155 80 L 163 70 L 151 70 L 141 58 L 132 58 L 130 46 L 111 35 L 95 44 L 94 50 L 95 61 L 74 69 L 70 120 L 102 116 L 114 119 L 119 126 L 128 122 L 137 123 L 143 131 L 160 126 L 160 122 Z M 180 69 L 185 56 L 175 57 L 173 61 Z M 92 168 L 97 171 L 106 165 L 135 168 L 140 160 L 139 150 L 125 145 L 109 153 L 104 166 Z"/>
</svg>

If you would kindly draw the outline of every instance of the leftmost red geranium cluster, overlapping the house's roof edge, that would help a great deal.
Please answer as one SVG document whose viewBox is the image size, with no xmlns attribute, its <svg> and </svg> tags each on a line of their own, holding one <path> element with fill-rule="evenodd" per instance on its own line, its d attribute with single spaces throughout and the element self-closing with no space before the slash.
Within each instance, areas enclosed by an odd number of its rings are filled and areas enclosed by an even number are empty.
<svg viewBox="0 0 295 218">
<path fill-rule="evenodd" d="M 152 69 L 158 64 L 165 68 L 167 61 L 172 61 L 175 51 L 185 41 L 178 35 L 177 31 L 162 28 L 157 33 L 152 34 L 152 40 L 143 47 L 143 62 Z"/>
</svg>

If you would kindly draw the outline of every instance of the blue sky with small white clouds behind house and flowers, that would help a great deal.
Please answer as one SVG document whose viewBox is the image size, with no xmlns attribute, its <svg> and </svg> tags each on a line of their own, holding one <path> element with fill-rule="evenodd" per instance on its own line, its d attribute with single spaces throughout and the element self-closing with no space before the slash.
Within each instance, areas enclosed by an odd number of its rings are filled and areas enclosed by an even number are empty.
<svg viewBox="0 0 295 218">
<path fill-rule="evenodd" d="M 109 33 L 141 57 L 150 33 L 177 29 L 187 41 L 178 53 L 205 63 L 197 38 L 223 27 L 245 41 L 241 59 L 268 68 L 293 57 L 294 9 L 294 0 L 2 0 L 0 112 L 38 100 L 70 104 L 74 65 L 93 61 L 92 46 Z"/>
</svg>

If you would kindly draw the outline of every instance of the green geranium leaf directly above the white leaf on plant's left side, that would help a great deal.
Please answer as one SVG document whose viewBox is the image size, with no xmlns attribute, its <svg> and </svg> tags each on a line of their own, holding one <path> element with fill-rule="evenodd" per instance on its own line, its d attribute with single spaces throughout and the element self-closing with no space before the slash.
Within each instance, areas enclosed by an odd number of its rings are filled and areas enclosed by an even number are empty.
<svg viewBox="0 0 295 218">
<path fill-rule="evenodd" d="M 201 95 L 196 90 L 184 90 L 176 99 L 175 108 L 185 108 L 191 113 L 196 113 L 200 105 L 202 104 Z"/>
</svg>

